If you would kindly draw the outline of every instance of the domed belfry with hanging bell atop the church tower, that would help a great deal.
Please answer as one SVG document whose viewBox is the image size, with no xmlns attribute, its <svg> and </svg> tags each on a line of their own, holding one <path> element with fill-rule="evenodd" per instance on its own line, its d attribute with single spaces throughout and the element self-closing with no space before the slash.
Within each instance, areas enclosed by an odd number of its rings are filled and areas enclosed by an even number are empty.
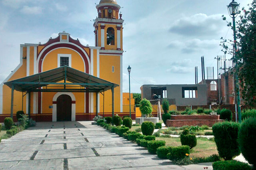
<svg viewBox="0 0 256 170">
<path fill-rule="evenodd" d="M 120 6 L 116 0 L 100 0 L 96 6 L 98 17 L 94 22 L 95 46 L 106 50 L 123 50 L 124 20 L 119 14 Z"/>
</svg>

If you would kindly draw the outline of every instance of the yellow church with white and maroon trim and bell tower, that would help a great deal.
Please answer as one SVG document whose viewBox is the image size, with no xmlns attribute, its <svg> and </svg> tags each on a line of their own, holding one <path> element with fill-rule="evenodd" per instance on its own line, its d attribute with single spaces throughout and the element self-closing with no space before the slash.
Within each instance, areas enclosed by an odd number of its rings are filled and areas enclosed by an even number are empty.
<svg viewBox="0 0 256 170">
<path fill-rule="evenodd" d="M 127 94 L 122 93 L 122 57 L 123 57 L 123 22 L 119 14 L 120 6 L 115 0 L 101 0 L 96 6 L 98 17 L 94 22 L 95 46 L 82 45 L 79 40 L 74 40 L 69 33 L 60 32 L 57 38 L 50 38 L 47 43 L 20 45 L 20 64 L 0 84 L 0 121 L 9 117 L 12 105 L 12 89 L 5 82 L 14 81 L 22 77 L 32 77 L 58 67 L 68 66 L 88 75 L 98 77 L 119 85 L 114 88 L 114 113 L 120 116 L 129 115 Z M 75 79 L 76 75 L 74 75 Z M 39 76 L 40 81 L 40 76 Z M 65 81 L 69 82 L 65 78 Z M 64 82 L 60 80 L 58 82 Z M 71 83 L 71 82 L 70 82 Z M 64 85 L 66 88 L 66 85 Z M 72 85 L 68 85 L 71 88 Z M 74 88 L 79 88 L 77 85 Z M 38 89 L 51 89 L 38 87 Z M 58 88 L 58 85 L 54 85 Z M 62 88 L 62 87 L 59 87 Z M 62 121 L 92 120 L 98 114 L 112 115 L 111 90 L 103 93 L 78 93 L 78 92 L 13 92 L 14 115 L 23 110 L 30 113 L 36 121 L 58 121 L 58 108 L 72 105 L 72 117 Z M 68 98 L 65 98 L 68 96 Z M 59 102 L 59 103 L 58 103 Z M 71 103 L 67 103 L 71 102 Z M 60 105 L 59 105 L 60 106 Z M 57 107 L 57 108 L 56 108 Z M 134 99 L 132 99 L 132 118 L 135 118 Z M 57 117 L 56 117 L 57 114 Z M 14 116 L 15 120 L 15 116 Z"/>
</svg>

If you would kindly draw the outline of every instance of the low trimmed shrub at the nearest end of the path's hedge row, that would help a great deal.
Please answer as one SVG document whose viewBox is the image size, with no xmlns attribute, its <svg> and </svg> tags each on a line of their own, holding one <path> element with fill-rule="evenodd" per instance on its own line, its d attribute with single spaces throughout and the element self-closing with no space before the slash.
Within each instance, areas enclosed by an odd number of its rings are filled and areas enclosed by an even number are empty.
<svg viewBox="0 0 256 170">
<path fill-rule="evenodd" d="M 167 154 L 169 160 L 180 160 L 190 154 L 190 148 L 187 145 L 172 147 L 171 152 Z"/>
</svg>

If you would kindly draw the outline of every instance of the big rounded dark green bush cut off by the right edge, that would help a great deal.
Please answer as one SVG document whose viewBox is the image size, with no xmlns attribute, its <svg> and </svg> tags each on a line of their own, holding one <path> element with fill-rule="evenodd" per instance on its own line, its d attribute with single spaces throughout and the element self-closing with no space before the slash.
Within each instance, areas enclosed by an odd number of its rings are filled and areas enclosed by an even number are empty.
<svg viewBox="0 0 256 170">
<path fill-rule="evenodd" d="M 256 118 L 246 119 L 238 132 L 238 144 L 244 158 L 256 167 Z"/>
</svg>

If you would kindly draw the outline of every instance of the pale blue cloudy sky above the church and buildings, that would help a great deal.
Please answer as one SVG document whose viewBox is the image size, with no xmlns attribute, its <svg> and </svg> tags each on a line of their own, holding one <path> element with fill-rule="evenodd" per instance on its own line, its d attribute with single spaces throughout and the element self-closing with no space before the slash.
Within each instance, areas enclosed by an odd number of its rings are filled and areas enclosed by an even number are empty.
<svg viewBox="0 0 256 170">
<path fill-rule="evenodd" d="M 100 0 L 0 0 L 0 82 L 19 64 L 20 44 L 47 42 L 66 31 L 94 46 L 93 21 Z M 240 8 L 252 0 L 236 0 Z M 217 70 L 224 55 L 220 38 L 232 40 L 222 20 L 231 0 L 117 0 L 122 7 L 123 92 L 140 93 L 144 84 L 194 84 L 205 67 Z M 229 56 L 227 56 L 228 58 Z M 216 75 L 217 72 L 214 74 Z"/>
</svg>

